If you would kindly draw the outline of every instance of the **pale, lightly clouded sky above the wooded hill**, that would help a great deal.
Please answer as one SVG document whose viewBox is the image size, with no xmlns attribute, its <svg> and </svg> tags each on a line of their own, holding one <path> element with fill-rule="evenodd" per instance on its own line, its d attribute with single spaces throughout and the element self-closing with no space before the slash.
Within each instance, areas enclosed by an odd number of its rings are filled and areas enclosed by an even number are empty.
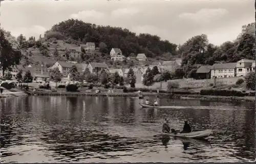
<svg viewBox="0 0 256 164">
<path fill-rule="evenodd" d="M 1 28 L 27 38 L 69 18 L 150 33 L 172 43 L 206 34 L 220 45 L 255 21 L 252 0 L 23 0 L 1 2 Z"/>
</svg>

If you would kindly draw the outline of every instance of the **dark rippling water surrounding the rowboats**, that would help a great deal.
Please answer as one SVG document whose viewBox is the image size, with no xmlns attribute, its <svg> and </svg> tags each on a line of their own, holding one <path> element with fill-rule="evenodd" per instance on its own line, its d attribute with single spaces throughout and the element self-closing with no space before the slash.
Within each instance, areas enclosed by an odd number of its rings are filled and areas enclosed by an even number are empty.
<svg viewBox="0 0 256 164">
<path fill-rule="evenodd" d="M 156 98 L 151 98 L 153 101 Z M 248 161 L 255 158 L 254 103 L 158 98 L 145 109 L 118 97 L 0 99 L 6 162 Z M 164 118 L 181 129 L 212 129 L 208 141 L 154 137 Z"/>
</svg>

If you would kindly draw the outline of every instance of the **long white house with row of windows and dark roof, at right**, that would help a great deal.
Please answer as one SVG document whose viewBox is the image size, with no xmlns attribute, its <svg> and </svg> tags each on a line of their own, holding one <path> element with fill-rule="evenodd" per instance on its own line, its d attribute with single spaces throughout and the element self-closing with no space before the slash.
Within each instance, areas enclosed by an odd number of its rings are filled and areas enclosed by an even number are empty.
<svg viewBox="0 0 256 164">
<path fill-rule="evenodd" d="M 210 71 L 211 79 L 236 77 L 236 66 L 237 63 L 219 63 L 212 65 Z"/>
</svg>

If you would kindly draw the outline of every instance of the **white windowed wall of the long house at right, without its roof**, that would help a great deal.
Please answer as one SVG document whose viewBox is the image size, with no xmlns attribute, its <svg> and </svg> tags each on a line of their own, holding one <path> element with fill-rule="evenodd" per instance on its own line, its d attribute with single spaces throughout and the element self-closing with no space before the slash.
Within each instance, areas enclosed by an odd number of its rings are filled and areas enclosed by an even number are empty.
<svg viewBox="0 0 256 164">
<path fill-rule="evenodd" d="M 236 77 L 236 69 L 211 69 L 211 79 Z"/>
</svg>

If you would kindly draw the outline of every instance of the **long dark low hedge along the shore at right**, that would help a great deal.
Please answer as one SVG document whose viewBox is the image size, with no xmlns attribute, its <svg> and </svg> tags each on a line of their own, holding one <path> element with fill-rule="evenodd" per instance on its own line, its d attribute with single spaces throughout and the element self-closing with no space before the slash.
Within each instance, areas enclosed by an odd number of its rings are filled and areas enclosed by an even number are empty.
<svg viewBox="0 0 256 164">
<path fill-rule="evenodd" d="M 200 95 L 211 95 L 211 96 L 238 96 L 238 97 L 244 97 L 247 94 L 242 93 L 238 90 L 214 90 L 214 89 L 202 89 L 200 91 Z"/>
</svg>

